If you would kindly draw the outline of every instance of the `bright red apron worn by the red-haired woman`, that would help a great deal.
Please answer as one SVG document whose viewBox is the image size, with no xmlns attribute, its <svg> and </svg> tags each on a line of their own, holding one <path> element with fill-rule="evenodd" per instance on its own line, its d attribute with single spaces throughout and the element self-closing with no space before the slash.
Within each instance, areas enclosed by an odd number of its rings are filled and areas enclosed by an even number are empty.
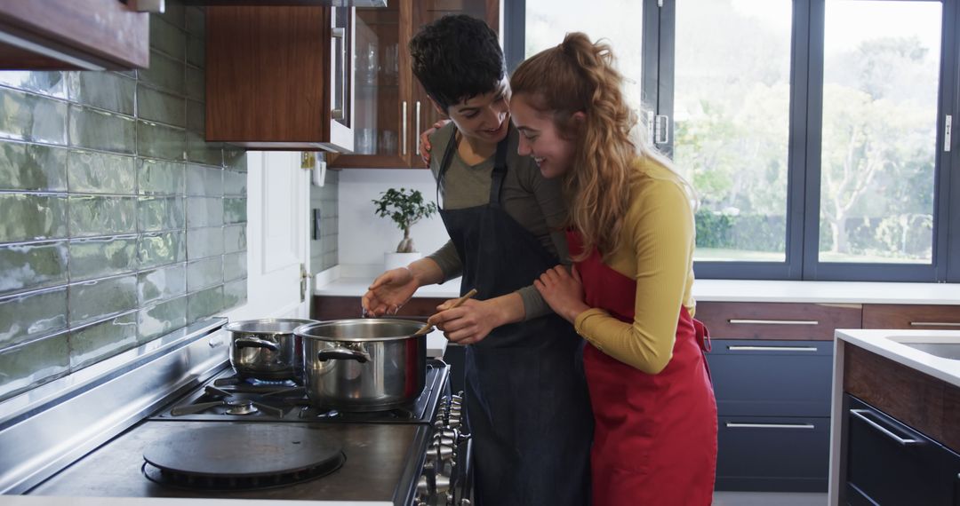
<svg viewBox="0 0 960 506">
<path fill-rule="evenodd" d="M 567 233 L 570 252 L 580 237 Z M 636 281 L 604 265 L 596 249 L 577 269 L 591 308 L 634 321 Z M 596 347 L 584 350 L 595 421 L 593 506 L 708 506 L 717 455 L 717 408 L 707 329 L 681 306 L 673 357 L 657 375 Z"/>
</svg>

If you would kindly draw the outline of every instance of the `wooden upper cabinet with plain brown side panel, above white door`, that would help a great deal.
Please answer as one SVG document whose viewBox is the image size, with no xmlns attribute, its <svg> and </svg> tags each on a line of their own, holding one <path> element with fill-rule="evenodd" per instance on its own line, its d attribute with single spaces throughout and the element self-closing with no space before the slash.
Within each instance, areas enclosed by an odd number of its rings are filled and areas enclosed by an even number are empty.
<svg viewBox="0 0 960 506">
<path fill-rule="evenodd" d="M 353 9 L 206 9 L 206 141 L 352 150 Z"/>
</svg>

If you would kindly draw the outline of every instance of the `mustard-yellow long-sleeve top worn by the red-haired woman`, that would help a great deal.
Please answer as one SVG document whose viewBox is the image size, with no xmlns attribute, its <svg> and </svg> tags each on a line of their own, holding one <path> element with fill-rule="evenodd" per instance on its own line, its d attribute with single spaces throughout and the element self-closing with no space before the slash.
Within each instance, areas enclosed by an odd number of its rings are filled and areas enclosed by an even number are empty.
<svg viewBox="0 0 960 506">
<path fill-rule="evenodd" d="M 602 308 L 583 311 L 577 333 L 622 362 L 657 374 L 673 355 L 683 304 L 693 315 L 693 210 L 676 174 L 649 158 L 638 159 L 631 180 L 631 206 L 616 251 L 604 264 L 636 280 L 633 323 Z"/>
</svg>

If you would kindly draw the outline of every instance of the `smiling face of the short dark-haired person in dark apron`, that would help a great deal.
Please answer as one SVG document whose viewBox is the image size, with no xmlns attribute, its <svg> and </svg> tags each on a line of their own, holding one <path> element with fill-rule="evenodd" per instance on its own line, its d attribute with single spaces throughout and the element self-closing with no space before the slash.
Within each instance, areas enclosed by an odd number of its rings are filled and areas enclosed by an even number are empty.
<svg viewBox="0 0 960 506">
<path fill-rule="evenodd" d="M 504 78 L 492 91 L 450 105 L 446 114 L 465 137 L 496 144 L 510 125 L 510 83 Z"/>
</svg>

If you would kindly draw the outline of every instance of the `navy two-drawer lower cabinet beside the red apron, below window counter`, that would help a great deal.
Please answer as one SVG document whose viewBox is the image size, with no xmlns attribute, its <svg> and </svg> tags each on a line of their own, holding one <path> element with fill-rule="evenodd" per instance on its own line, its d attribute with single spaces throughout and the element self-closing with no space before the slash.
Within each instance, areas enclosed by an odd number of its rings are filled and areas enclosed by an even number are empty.
<svg viewBox="0 0 960 506">
<path fill-rule="evenodd" d="M 827 492 L 833 342 L 713 339 L 716 490 Z"/>
</svg>

